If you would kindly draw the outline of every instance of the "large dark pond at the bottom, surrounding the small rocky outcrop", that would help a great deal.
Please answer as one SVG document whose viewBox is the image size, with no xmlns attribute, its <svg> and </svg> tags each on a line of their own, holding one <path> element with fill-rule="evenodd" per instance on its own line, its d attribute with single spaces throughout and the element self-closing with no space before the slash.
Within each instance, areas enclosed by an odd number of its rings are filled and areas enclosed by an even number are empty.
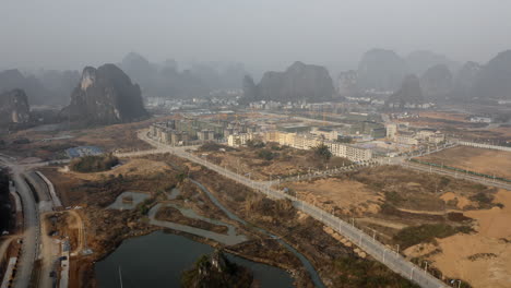
<svg viewBox="0 0 511 288">
<path fill-rule="evenodd" d="M 96 263 L 96 279 L 102 288 L 121 287 L 120 278 L 123 288 L 179 287 L 181 273 L 192 268 L 201 255 L 212 252 L 207 244 L 158 231 L 123 241 L 114 253 Z M 250 268 L 261 287 L 293 287 L 293 278 L 284 269 L 226 255 Z"/>
</svg>

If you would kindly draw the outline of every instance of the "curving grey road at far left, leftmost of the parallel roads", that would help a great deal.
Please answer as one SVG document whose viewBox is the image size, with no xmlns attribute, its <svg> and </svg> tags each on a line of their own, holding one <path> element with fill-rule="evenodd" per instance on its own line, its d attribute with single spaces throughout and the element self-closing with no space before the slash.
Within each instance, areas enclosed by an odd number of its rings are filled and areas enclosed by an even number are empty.
<svg viewBox="0 0 511 288">
<path fill-rule="evenodd" d="M 31 283 L 32 271 L 39 247 L 39 213 L 32 191 L 22 177 L 23 168 L 11 163 L 10 158 L 0 156 L 0 160 L 11 168 L 12 180 L 22 200 L 24 217 L 23 245 L 19 259 L 14 287 L 26 288 Z"/>
</svg>

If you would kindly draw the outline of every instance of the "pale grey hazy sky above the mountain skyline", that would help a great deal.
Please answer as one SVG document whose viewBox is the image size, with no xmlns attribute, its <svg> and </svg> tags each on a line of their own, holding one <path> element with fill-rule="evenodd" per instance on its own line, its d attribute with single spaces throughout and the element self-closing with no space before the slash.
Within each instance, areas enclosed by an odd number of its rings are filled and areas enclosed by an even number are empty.
<svg viewBox="0 0 511 288">
<path fill-rule="evenodd" d="M 0 68 L 295 60 L 354 68 L 379 47 L 486 62 L 511 49 L 508 0 L 1 0 Z"/>
</svg>

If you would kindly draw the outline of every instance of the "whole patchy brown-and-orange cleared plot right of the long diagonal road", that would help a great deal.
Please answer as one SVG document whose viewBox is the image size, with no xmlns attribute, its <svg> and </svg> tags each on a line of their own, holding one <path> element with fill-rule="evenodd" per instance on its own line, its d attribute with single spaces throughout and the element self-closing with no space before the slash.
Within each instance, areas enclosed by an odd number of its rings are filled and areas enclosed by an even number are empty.
<svg viewBox="0 0 511 288">
<path fill-rule="evenodd" d="M 281 185 L 427 261 L 435 275 L 511 286 L 511 191 L 397 166 Z"/>
</svg>

